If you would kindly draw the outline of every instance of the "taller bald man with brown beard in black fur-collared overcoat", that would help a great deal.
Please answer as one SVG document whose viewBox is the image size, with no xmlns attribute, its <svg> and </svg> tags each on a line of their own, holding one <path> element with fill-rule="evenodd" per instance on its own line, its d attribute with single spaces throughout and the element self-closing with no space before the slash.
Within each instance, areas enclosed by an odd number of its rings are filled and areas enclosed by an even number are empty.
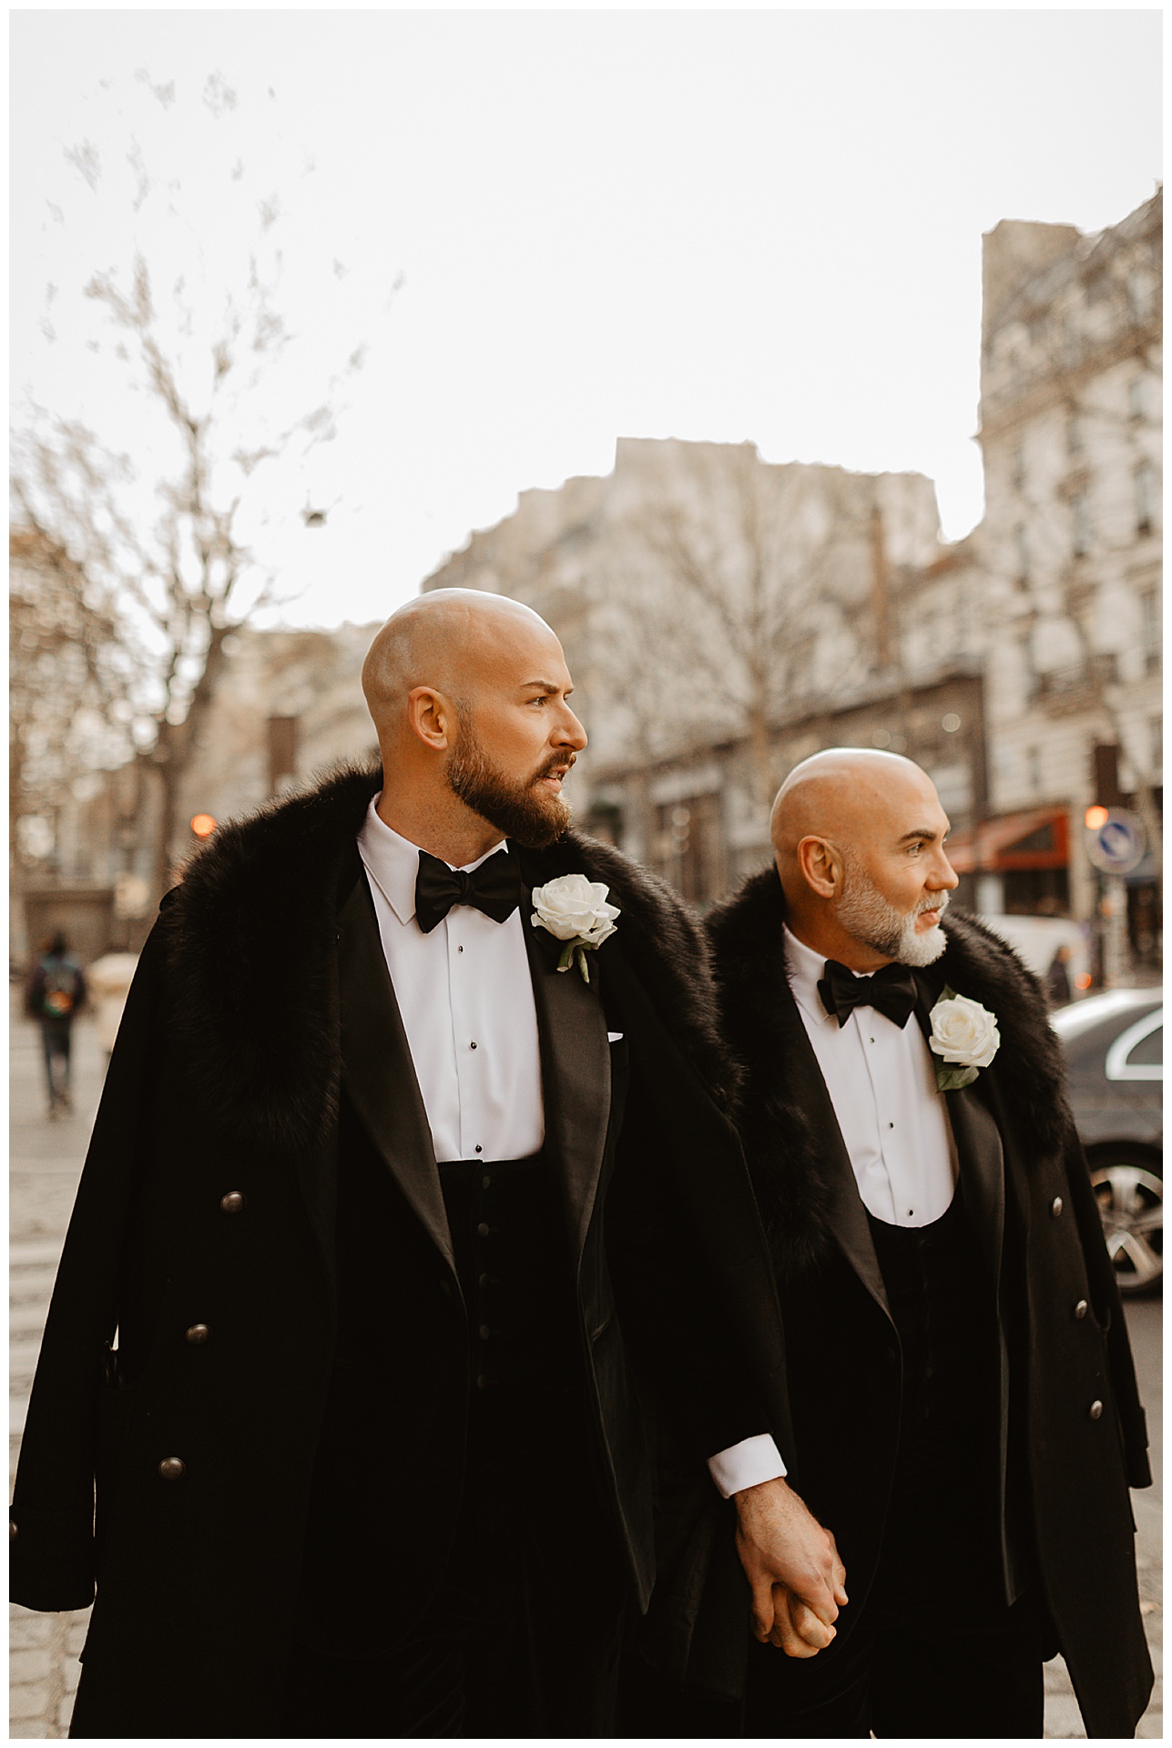
<svg viewBox="0 0 1172 1748">
<path fill-rule="evenodd" d="M 12 1510 L 16 1601 L 96 1578 L 73 1736 L 612 1734 L 652 1409 L 770 1655 L 847 1596 L 700 933 L 569 830 L 556 636 L 437 591 L 362 680 L 381 766 L 187 864 L 110 1063 Z"/>
</svg>

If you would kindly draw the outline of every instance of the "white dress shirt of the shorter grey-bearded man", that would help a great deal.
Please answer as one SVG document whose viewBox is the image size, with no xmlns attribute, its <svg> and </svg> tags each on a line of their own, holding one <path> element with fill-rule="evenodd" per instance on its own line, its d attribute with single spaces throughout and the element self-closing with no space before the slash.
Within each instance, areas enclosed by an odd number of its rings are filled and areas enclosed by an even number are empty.
<svg viewBox="0 0 1172 1748">
<path fill-rule="evenodd" d="M 952 1203 L 957 1152 L 915 1016 L 897 1026 L 875 1007 L 855 1007 L 840 1028 L 819 995 L 826 960 L 789 928 L 785 974 L 864 1206 L 887 1225 L 931 1225 Z"/>
</svg>

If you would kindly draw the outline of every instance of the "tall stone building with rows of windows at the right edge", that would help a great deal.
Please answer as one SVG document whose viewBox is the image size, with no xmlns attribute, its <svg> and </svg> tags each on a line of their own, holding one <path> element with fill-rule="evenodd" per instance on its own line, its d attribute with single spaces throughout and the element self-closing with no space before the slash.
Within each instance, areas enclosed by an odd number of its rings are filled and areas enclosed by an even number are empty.
<svg viewBox="0 0 1172 1748">
<path fill-rule="evenodd" d="M 1002 871 L 1004 902 L 1095 921 L 1116 951 L 1153 963 L 1162 238 L 1162 194 L 1097 236 L 1009 222 L 985 236 L 976 535 L 992 633 L 990 806 L 1032 822 L 1023 837 L 1050 832 L 1032 869 Z M 1128 804 L 1144 822 L 1149 853 L 1125 886 L 1104 886 L 1085 855 L 1092 804 Z"/>
</svg>

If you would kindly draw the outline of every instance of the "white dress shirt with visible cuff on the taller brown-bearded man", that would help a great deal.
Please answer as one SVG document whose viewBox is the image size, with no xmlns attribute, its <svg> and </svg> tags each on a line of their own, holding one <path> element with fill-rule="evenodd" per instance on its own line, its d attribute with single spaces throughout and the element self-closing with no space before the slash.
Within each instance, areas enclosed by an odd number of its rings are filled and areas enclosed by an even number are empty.
<svg viewBox="0 0 1172 1748">
<path fill-rule="evenodd" d="M 359 855 L 436 1159 L 527 1159 L 541 1150 L 546 1117 L 525 907 L 495 923 L 453 904 L 425 935 L 415 919 L 420 851 L 378 816 L 380 795 L 362 822 Z M 502 844 L 465 872 L 499 853 Z M 768 1433 L 717 1451 L 708 1468 L 724 1498 L 785 1474 Z"/>
</svg>

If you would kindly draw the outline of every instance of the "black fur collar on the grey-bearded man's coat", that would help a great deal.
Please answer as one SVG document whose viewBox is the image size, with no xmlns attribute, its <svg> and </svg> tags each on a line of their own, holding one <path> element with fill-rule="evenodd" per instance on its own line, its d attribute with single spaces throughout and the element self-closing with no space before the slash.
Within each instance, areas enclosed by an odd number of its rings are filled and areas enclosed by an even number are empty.
<svg viewBox="0 0 1172 1748">
<path fill-rule="evenodd" d="M 749 1168 L 787 1276 L 799 1276 L 829 1245 L 831 1194 L 824 1148 L 803 1110 L 808 1044 L 785 977 L 785 898 L 773 867 L 750 876 L 708 918 L 724 1035 L 740 1068 L 740 1127 Z M 1062 1049 L 1037 979 L 997 935 L 971 916 L 945 912 L 948 947 L 929 968 L 997 1016 L 1001 1049 L 978 1089 L 997 1089 L 1025 1157 L 1051 1154 L 1069 1133 Z M 988 1077 L 985 1080 L 985 1077 Z M 985 1087 L 981 1087 L 985 1080 Z"/>
</svg>

